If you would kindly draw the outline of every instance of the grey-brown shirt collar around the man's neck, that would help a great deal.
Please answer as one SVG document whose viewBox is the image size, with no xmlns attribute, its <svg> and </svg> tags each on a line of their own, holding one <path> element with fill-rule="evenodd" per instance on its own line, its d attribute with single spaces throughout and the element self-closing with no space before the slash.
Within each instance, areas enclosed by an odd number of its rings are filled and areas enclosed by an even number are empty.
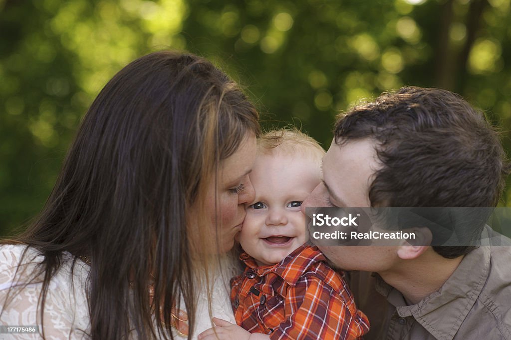
<svg viewBox="0 0 511 340">
<path fill-rule="evenodd" d="M 451 340 L 476 302 L 489 273 L 490 247 L 481 246 L 464 256 L 438 291 L 417 304 L 406 305 L 403 294 L 379 275 L 376 290 L 396 306 L 400 316 L 413 316 L 436 338 Z"/>
</svg>

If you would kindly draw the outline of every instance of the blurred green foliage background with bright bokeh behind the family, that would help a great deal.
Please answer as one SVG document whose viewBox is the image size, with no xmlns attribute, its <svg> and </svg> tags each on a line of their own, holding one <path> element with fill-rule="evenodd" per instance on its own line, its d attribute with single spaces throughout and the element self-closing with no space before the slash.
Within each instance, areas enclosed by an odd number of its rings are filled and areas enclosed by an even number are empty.
<svg viewBox="0 0 511 340">
<path fill-rule="evenodd" d="M 106 81 L 163 48 L 210 58 L 263 125 L 301 126 L 326 148 L 339 110 L 419 85 L 485 110 L 510 150 L 510 2 L 0 0 L 0 235 L 41 209 Z"/>
</svg>

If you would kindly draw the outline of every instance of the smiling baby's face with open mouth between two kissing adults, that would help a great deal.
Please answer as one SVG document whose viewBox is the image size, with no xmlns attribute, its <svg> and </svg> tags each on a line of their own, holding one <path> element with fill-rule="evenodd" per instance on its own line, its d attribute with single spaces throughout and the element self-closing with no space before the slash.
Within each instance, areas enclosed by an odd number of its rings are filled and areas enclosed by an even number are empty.
<svg viewBox="0 0 511 340">
<path fill-rule="evenodd" d="M 301 202 L 319 184 L 312 156 L 260 153 L 250 173 L 255 199 L 239 234 L 243 250 L 260 265 L 275 264 L 308 240 Z"/>
</svg>

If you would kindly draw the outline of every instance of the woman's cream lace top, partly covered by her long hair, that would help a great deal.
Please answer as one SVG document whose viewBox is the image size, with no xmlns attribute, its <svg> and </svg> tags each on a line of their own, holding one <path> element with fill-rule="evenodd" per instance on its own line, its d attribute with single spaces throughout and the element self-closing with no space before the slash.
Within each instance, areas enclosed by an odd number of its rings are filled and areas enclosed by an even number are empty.
<svg viewBox="0 0 511 340">
<path fill-rule="evenodd" d="M 42 260 L 37 251 L 29 248 L 24 265 L 19 268 L 15 280 L 14 275 L 25 245 L 0 246 L 0 306 L 3 308 L 6 298 L 9 304 L 0 316 L 0 325 L 4 326 L 36 326 L 41 325 L 38 299 L 42 283 L 26 286 L 28 277 L 35 264 Z M 89 267 L 82 261 L 76 261 L 71 276 L 72 255 L 66 254 L 63 264 L 50 282 L 44 305 L 44 335 L 48 340 L 57 339 L 89 339 L 90 320 L 85 287 Z M 68 260 L 68 261 L 65 261 Z M 233 266 L 230 266 L 233 268 Z M 218 275 L 212 292 L 213 316 L 235 323 L 229 301 L 229 275 Z M 37 282 L 37 281 L 36 281 Z M 7 296 L 9 288 L 9 297 Z M 197 301 L 197 323 L 194 338 L 203 330 L 212 327 L 208 312 L 206 289 L 199 291 Z M 39 327 L 41 332 L 41 327 Z M 39 334 L 0 334 L 0 338 L 9 339 L 41 339 Z M 185 337 L 177 337 L 185 338 Z"/>
</svg>

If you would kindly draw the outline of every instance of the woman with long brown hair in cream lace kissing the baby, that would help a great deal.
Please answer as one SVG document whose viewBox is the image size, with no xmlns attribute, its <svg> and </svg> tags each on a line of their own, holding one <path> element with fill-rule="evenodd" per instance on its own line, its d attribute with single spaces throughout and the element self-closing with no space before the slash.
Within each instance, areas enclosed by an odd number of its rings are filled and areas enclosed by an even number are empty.
<svg viewBox="0 0 511 340">
<path fill-rule="evenodd" d="M 33 338 L 175 338 L 183 309 L 191 338 L 212 305 L 232 313 L 216 288 L 253 199 L 259 132 L 210 62 L 155 52 L 128 64 L 90 106 L 41 213 L 0 245 L 0 324 L 38 325 Z"/>
</svg>

